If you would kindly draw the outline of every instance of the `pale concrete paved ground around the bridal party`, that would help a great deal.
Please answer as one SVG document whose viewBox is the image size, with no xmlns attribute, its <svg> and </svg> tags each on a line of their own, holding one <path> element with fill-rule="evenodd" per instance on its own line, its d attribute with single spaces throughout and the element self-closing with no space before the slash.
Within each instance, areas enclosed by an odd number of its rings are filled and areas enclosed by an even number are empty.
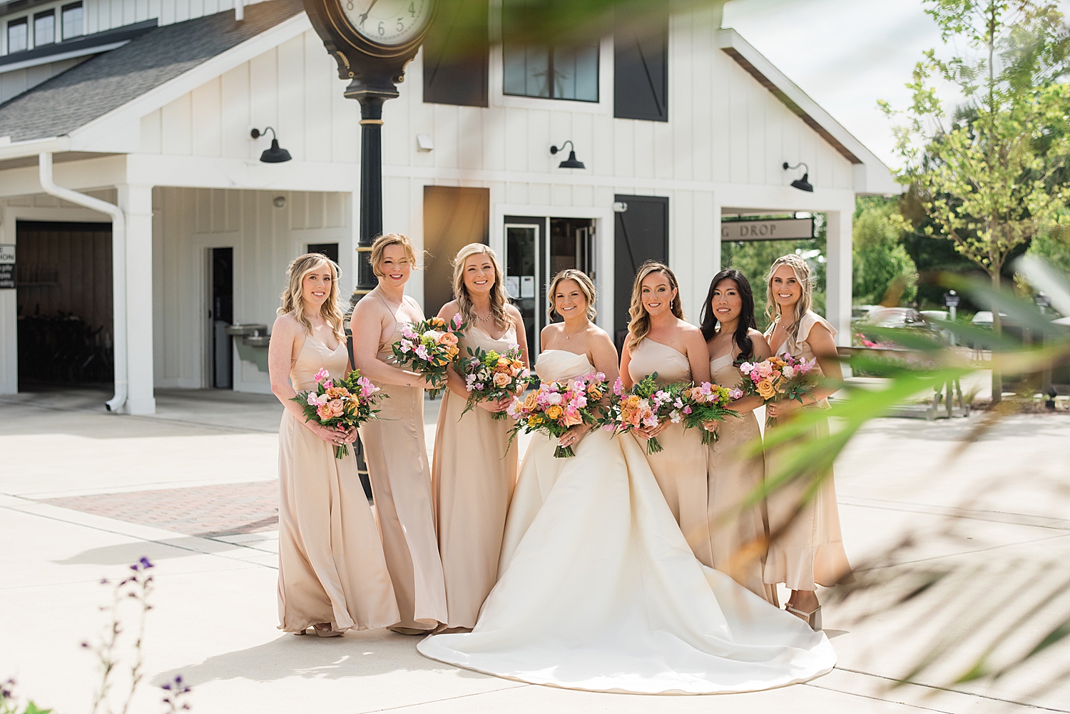
<svg viewBox="0 0 1070 714">
<path fill-rule="evenodd" d="M 874 422 L 837 464 L 859 572 L 821 593 L 836 671 L 748 695 L 640 697 L 476 674 L 392 633 L 282 635 L 280 407 L 164 392 L 159 414 L 132 417 L 104 413 L 107 396 L 0 397 L 0 679 L 58 714 L 90 711 L 97 680 L 79 643 L 106 622 L 100 580 L 142 556 L 157 565 L 138 713 L 162 711 L 156 687 L 178 673 L 195 712 L 219 714 L 1070 711 L 1070 638 L 995 683 L 963 678 L 1007 668 L 1070 620 L 1070 417 L 1011 417 L 965 450 L 979 416 Z M 892 686 L 904 677 L 913 683 Z"/>
</svg>

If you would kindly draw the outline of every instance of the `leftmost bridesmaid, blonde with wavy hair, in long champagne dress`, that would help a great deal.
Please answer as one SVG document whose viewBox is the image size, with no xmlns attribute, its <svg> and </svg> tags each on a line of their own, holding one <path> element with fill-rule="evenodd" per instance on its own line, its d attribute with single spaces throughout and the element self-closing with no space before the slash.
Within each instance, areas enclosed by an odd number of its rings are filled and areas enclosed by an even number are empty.
<svg viewBox="0 0 1070 714">
<path fill-rule="evenodd" d="M 394 588 L 376 518 L 352 454 L 336 459 L 356 430 L 305 421 L 290 399 L 315 390 L 315 375 L 349 371 L 338 309 L 338 267 L 319 254 L 296 258 L 268 349 L 271 388 L 282 402 L 278 427 L 279 629 L 320 637 L 397 622 Z"/>
</svg>

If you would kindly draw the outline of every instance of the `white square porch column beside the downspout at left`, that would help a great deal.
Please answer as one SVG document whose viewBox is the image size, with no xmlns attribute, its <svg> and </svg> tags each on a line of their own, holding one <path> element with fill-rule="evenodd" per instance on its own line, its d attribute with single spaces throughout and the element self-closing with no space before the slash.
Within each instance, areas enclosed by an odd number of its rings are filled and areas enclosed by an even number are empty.
<svg viewBox="0 0 1070 714">
<path fill-rule="evenodd" d="M 126 412 L 156 413 L 152 361 L 152 186 L 121 184 L 126 214 Z"/>
</svg>

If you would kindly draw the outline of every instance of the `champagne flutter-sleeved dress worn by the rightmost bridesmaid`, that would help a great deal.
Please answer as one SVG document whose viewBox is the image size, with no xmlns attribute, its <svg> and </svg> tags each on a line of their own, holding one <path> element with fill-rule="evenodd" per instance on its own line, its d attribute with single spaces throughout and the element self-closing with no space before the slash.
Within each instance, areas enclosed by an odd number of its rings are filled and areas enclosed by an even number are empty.
<svg viewBox="0 0 1070 714">
<path fill-rule="evenodd" d="M 774 354 L 790 352 L 796 358 L 813 360 L 813 350 L 807 344 L 810 330 L 815 324 L 823 324 L 835 337 L 836 328 L 824 318 L 807 313 L 799 320 L 798 335 L 795 339 L 789 336 L 784 343 L 777 345 Z M 776 323 L 769 325 L 766 339 L 773 335 Z M 815 371 L 821 375 L 821 364 Z M 815 405 L 804 409 L 828 409 L 828 401 L 822 399 Z M 776 428 L 776 426 L 769 427 Z M 828 420 L 821 420 L 813 427 L 810 438 L 828 436 Z M 765 454 L 766 470 L 775 473 L 780 462 L 777 450 Z M 769 495 L 769 530 L 776 533 L 791 521 L 793 514 L 804 499 L 808 483 L 793 483 L 778 488 Z M 790 590 L 816 590 L 816 586 L 831 587 L 850 575 L 851 564 L 843 550 L 843 536 L 840 532 L 840 512 L 836 505 L 836 484 L 829 473 L 821 485 L 817 493 L 802 504 L 801 513 L 794 522 L 780 534 L 770 545 L 765 560 L 764 580 L 767 583 L 783 582 Z"/>
</svg>

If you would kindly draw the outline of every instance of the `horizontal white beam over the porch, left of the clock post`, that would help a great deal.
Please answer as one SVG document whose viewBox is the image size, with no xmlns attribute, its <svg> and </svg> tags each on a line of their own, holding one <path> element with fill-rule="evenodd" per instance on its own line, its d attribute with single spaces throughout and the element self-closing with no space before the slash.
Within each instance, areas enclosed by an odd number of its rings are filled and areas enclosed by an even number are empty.
<svg viewBox="0 0 1070 714">
<path fill-rule="evenodd" d="M 297 161 L 264 164 L 255 158 L 126 155 L 126 180 L 154 186 L 355 192 L 360 174 L 355 164 Z"/>
</svg>

